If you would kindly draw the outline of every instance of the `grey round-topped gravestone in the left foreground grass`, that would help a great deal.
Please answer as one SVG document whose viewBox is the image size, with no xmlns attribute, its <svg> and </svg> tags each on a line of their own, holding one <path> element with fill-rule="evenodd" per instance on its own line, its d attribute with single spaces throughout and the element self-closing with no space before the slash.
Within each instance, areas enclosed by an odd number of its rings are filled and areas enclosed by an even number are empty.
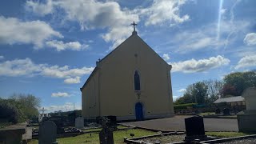
<svg viewBox="0 0 256 144">
<path fill-rule="evenodd" d="M 52 144 L 56 142 L 57 126 L 54 122 L 42 122 L 39 126 L 38 144 Z"/>
</svg>

